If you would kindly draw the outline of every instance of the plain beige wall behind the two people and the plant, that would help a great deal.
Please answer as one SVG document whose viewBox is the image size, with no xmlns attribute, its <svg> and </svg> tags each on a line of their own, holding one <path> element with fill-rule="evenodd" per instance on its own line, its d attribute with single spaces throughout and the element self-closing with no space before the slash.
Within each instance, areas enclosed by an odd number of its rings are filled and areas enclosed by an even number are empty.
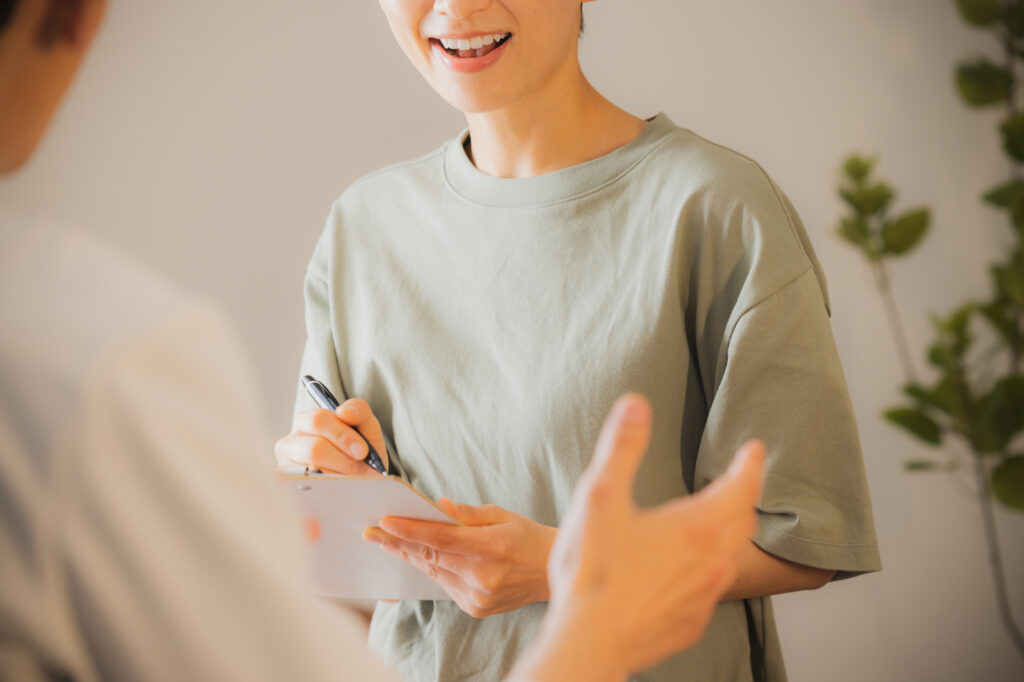
<svg viewBox="0 0 1024 682">
<path fill-rule="evenodd" d="M 1024 679 L 997 621 L 973 480 L 902 472 L 925 453 L 879 418 L 899 376 L 883 309 L 864 263 L 831 235 L 841 159 L 882 154 L 900 206 L 929 204 L 936 216 L 925 247 L 895 269 L 915 352 L 931 337 L 927 311 L 987 291 L 985 263 L 1009 232 L 977 197 L 1007 165 L 995 119 L 968 112 L 950 74 L 990 44 L 951 0 L 587 9 L 582 53 L 595 85 L 759 160 L 829 275 L 886 568 L 776 599 L 794 680 Z M 220 302 L 284 432 L 302 275 L 331 201 L 462 127 L 392 44 L 376 3 L 114 0 L 54 129 L 26 172 L 0 183 L 0 204 L 89 226 Z M 1024 621 L 1024 516 L 1000 512 L 998 523 Z"/>
</svg>

